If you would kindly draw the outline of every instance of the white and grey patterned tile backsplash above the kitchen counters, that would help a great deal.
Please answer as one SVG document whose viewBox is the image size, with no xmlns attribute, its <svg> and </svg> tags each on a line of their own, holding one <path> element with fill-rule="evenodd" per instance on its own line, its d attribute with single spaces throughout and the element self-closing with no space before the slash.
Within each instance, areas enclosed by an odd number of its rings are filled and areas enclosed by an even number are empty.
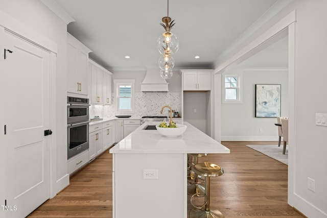
<svg viewBox="0 0 327 218">
<path fill-rule="evenodd" d="M 114 93 L 113 93 L 114 95 Z M 135 92 L 135 113 L 129 114 L 134 117 L 169 115 L 168 109 L 160 114 L 161 107 L 169 105 L 175 111 L 180 111 L 179 92 Z M 115 98 L 112 97 L 111 105 L 91 105 L 90 117 L 100 116 L 103 118 L 113 117 L 114 115 L 125 115 L 115 111 Z"/>
</svg>

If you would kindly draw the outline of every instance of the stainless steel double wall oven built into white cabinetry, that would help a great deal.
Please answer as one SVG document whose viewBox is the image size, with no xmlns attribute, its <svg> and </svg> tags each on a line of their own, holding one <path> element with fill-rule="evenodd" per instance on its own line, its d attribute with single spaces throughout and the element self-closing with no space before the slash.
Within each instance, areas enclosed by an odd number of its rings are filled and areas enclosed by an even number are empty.
<svg viewBox="0 0 327 218">
<path fill-rule="evenodd" d="M 89 101 L 67 97 L 67 158 L 71 158 L 89 147 Z"/>
</svg>

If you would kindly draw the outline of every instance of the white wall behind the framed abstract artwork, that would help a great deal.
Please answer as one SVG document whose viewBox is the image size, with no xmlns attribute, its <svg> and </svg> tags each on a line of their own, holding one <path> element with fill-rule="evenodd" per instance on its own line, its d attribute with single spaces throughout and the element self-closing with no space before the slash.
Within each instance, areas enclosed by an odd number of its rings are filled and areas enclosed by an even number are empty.
<svg viewBox="0 0 327 218">
<path fill-rule="evenodd" d="M 281 84 L 281 115 L 288 116 L 288 72 L 245 70 L 243 103 L 221 105 L 222 141 L 278 140 L 276 118 L 255 117 L 255 84 Z"/>
</svg>

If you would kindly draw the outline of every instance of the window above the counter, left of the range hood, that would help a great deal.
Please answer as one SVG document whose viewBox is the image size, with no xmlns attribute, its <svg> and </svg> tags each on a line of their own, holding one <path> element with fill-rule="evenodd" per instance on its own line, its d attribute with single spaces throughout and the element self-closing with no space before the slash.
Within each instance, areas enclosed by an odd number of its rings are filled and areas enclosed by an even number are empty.
<svg viewBox="0 0 327 218">
<path fill-rule="evenodd" d="M 116 110 L 133 112 L 134 110 L 134 80 L 114 80 L 116 87 Z"/>
</svg>

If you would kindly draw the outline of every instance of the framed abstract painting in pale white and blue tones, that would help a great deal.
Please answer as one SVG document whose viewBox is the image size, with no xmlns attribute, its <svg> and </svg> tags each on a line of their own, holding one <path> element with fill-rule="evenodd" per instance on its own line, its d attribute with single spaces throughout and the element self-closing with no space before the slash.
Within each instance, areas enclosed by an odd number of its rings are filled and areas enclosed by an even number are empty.
<svg viewBox="0 0 327 218">
<path fill-rule="evenodd" d="M 255 117 L 281 116 L 281 84 L 255 84 Z"/>
</svg>

